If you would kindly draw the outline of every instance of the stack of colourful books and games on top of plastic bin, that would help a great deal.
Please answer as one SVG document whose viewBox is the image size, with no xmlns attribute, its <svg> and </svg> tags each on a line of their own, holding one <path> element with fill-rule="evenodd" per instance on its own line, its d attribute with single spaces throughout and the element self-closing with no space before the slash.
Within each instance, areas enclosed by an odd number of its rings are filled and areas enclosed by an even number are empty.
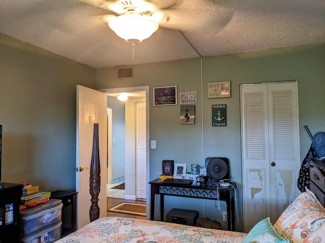
<svg viewBox="0 0 325 243">
<path fill-rule="evenodd" d="M 29 183 L 21 184 L 24 187 L 20 198 L 20 210 L 46 203 L 50 199 L 51 192 L 39 190 L 39 186 L 32 186 Z"/>
</svg>

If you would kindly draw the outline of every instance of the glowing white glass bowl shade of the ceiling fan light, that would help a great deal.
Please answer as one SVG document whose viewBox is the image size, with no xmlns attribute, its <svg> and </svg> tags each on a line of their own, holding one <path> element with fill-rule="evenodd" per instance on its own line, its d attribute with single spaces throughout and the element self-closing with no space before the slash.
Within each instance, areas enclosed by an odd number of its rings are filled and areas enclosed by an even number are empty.
<svg viewBox="0 0 325 243">
<path fill-rule="evenodd" d="M 138 14 L 117 16 L 108 22 L 108 26 L 119 37 L 133 45 L 149 38 L 159 27 L 150 17 Z"/>
</svg>

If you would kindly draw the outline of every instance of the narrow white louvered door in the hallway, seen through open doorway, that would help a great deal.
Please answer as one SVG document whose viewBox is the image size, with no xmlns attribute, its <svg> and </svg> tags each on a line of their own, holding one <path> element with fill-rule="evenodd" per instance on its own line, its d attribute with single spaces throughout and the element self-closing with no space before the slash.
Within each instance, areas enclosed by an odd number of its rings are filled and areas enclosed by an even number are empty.
<svg viewBox="0 0 325 243">
<path fill-rule="evenodd" d="M 146 102 L 136 102 L 137 198 L 146 199 Z"/>
</svg>

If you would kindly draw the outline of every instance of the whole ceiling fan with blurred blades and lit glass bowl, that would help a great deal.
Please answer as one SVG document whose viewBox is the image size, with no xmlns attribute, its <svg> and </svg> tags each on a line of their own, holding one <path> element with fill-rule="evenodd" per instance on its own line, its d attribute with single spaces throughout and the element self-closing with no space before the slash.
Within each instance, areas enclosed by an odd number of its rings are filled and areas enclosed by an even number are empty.
<svg viewBox="0 0 325 243">
<path fill-rule="evenodd" d="M 150 37 L 159 27 L 183 33 L 194 29 L 223 28 L 232 18 L 230 11 L 216 13 L 214 0 L 79 0 L 109 11 L 103 16 L 109 27 L 132 46 Z M 196 5 L 207 11 L 196 11 Z"/>
</svg>

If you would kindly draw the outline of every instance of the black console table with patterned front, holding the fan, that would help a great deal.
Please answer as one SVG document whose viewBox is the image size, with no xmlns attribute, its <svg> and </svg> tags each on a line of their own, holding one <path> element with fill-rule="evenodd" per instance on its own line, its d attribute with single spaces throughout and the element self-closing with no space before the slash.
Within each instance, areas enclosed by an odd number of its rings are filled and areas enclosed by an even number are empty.
<svg viewBox="0 0 325 243">
<path fill-rule="evenodd" d="M 225 201 L 227 205 L 228 230 L 235 230 L 235 190 L 232 186 L 217 187 L 200 185 L 196 182 L 193 182 L 191 185 L 166 184 L 159 181 L 159 179 L 150 181 L 149 184 L 151 185 L 150 220 L 154 220 L 154 201 L 156 194 L 160 195 L 160 221 L 163 221 L 164 195 L 217 200 L 217 193 L 219 193 L 219 200 Z M 236 185 L 236 183 L 231 184 L 233 186 Z"/>
</svg>

